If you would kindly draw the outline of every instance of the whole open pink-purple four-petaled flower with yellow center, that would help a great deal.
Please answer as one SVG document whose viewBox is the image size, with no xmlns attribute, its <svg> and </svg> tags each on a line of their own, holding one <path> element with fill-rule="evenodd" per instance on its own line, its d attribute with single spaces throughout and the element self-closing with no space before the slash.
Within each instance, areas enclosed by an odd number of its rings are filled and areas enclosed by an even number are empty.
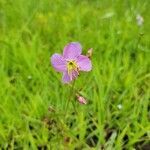
<svg viewBox="0 0 150 150">
<path fill-rule="evenodd" d="M 81 55 L 82 47 L 78 42 L 71 42 L 64 47 L 63 55 L 53 54 L 51 63 L 54 69 L 63 73 L 62 80 L 69 83 L 76 79 L 80 71 L 92 69 L 91 60 Z"/>
</svg>

